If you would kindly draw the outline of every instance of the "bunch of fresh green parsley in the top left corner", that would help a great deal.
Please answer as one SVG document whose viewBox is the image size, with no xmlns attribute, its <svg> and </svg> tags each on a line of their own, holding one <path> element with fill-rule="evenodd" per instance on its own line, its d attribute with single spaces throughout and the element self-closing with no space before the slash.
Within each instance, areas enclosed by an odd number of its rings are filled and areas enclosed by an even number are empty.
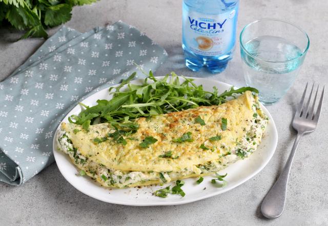
<svg viewBox="0 0 328 226">
<path fill-rule="evenodd" d="M 46 28 L 66 23 L 75 5 L 91 4 L 97 0 L 0 0 L 0 25 L 10 23 L 27 37 L 48 37 Z"/>
</svg>

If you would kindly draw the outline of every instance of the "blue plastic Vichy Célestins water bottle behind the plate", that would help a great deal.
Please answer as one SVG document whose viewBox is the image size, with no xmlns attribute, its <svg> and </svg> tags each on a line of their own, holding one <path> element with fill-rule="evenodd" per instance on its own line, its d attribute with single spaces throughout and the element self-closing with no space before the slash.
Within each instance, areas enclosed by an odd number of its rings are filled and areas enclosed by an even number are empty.
<svg viewBox="0 0 328 226">
<path fill-rule="evenodd" d="M 182 48 L 186 66 L 226 69 L 236 42 L 239 0 L 183 0 Z"/>
</svg>

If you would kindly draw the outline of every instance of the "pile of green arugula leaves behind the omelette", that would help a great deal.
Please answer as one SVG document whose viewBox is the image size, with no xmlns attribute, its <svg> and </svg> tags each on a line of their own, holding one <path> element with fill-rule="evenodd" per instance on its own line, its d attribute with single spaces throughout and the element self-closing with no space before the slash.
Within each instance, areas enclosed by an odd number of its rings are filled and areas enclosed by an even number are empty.
<svg viewBox="0 0 328 226">
<path fill-rule="evenodd" d="M 167 114 L 198 106 L 219 105 L 227 102 L 226 97 L 233 96 L 234 93 L 242 93 L 247 90 L 258 92 L 254 88 L 243 87 L 236 90 L 231 88 L 218 95 L 216 87 L 213 87 L 212 92 L 205 91 L 192 79 L 183 77 L 185 81 L 180 82 L 174 72 L 171 73 L 172 77 L 170 78 L 168 74 L 163 79 L 156 79 L 150 71 L 149 74 L 146 74 L 148 77 L 143 84 L 135 85 L 130 83 L 135 75 L 136 73 L 131 74 L 118 87 L 109 89 L 113 93 L 110 101 L 98 100 L 97 105 L 92 107 L 83 105 L 86 109 L 81 111 L 78 116 L 71 116 L 70 122 L 83 125 L 85 129 L 88 129 L 90 123 L 95 121 L 117 125 L 126 118 L 133 121 L 140 117 Z M 121 91 L 123 87 L 126 87 L 125 91 Z M 195 122 L 205 125 L 201 117 L 197 117 Z"/>
</svg>

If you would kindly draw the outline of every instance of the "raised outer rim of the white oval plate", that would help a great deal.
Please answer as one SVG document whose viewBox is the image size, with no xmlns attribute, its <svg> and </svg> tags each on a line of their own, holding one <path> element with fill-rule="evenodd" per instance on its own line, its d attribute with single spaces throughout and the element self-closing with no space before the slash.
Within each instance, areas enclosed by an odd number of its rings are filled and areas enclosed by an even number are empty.
<svg viewBox="0 0 328 226">
<path fill-rule="evenodd" d="M 179 79 L 183 79 L 183 77 L 181 77 L 181 76 L 178 76 L 178 77 L 179 77 Z M 185 78 L 188 78 L 188 79 L 194 79 L 194 80 L 196 79 L 196 80 L 200 80 L 200 81 L 204 81 L 204 80 L 206 80 L 207 82 L 213 81 L 213 82 L 216 82 L 216 83 L 221 83 L 222 85 L 225 85 L 225 86 L 235 87 L 235 86 L 230 85 L 230 84 L 228 84 L 228 83 L 221 82 L 221 81 L 217 81 L 217 80 L 214 80 L 214 79 L 208 79 L 208 78 L 197 78 L 197 77 L 186 77 L 186 76 L 184 76 L 184 77 L 185 77 Z M 157 79 L 161 79 L 161 78 L 164 78 L 164 76 L 158 76 L 158 77 L 155 77 L 155 78 L 157 78 Z M 138 78 L 138 79 L 133 80 L 133 82 L 138 82 L 138 81 L 142 81 L 142 80 L 144 80 L 144 79 L 139 79 L 139 78 Z M 201 82 L 201 83 L 203 83 L 203 82 Z M 88 97 L 85 97 L 85 98 L 84 98 L 83 100 L 81 100 L 80 102 L 83 102 L 83 101 L 85 101 L 87 98 L 96 95 L 96 93 L 98 93 L 98 92 L 101 92 L 101 91 L 103 91 L 103 90 L 105 90 L 105 89 L 108 90 L 110 87 L 116 87 L 116 86 L 118 86 L 118 85 L 120 85 L 120 84 L 121 84 L 121 83 L 114 84 L 114 85 L 110 85 L 110 84 L 108 84 L 108 87 L 105 87 L 105 88 L 103 88 L 103 89 L 98 90 L 97 92 L 94 92 L 92 95 L 90 95 L 90 96 L 88 96 Z M 235 88 L 236 88 L 236 87 L 235 87 Z M 216 195 L 223 194 L 223 193 L 226 193 L 226 192 L 228 192 L 228 191 L 231 191 L 231 190 L 235 189 L 237 186 L 239 186 L 239 185 L 245 183 L 246 181 L 250 180 L 251 178 L 253 178 L 254 176 L 256 176 L 259 172 L 261 172 L 261 171 L 263 170 L 263 168 L 264 168 L 265 166 L 267 166 L 267 164 L 268 164 L 268 163 L 270 162 L 270 160 L 272 159 L 272 157 L 273 157 L 273 155 L 274 155 L 274 153 L 275 153 L 275 151 L 276 151 L 277 144 L 278 144 L 278 131 L 277 131 L 276 124 L 275 124 L 275 122 L 274 122 L 274 120 L 273 120 L 273 117 L 271 116 L 269 110 L 268 110 L 267 108 L 265 108 L 265 106 L 264 106 L 262 103 L 260 103 L 260 105 L 261 105 L 262 110 L 265 112 L 265 114 L 270 118 L 270 123 L 272 124 L 273 129 L 274 129 L 274 130 L 273 130 L 273 132 L 274 132 L 274 134 L 273 134 L 274 145 L 272 146 L 272 148 L 270 148 L 270 149 L 272 149 L 272 151 L 270 152 L 270 155 L 268 156 L 268 158 L 265 159 L 265 160 L 262 162 L 261 166 L 258 167 L 257 170 L 256 170 L 254 173 L 250 174 L 250 175 L 247 176 L 247 177 L 242 178 L 238 183 L 236 183 L 236 184 L 230 186 L 228 189 L 218 190 L 218 191 L 216 191 L 216 192 L 212 192 L 212 193 L 210 193 L 210 194 L 203 195 L 203 196 L 199 196 L 199 197 L 196 197 L 196 198 L 191 198 L 191 199 L 186 199 L 186 200 L 181 200 L 181 201 L 180 201 L 180 200 L 179 200 L 179 201 L 169 201 L 169 202 L 162 202 L 162 201 L 159 201 L 159 202 L 156 202 L 156 203 L 145 202 L 145 201 L 143 201 L 143 202 L 137 202 L 137 203 L 129 203 L 129 202 L 126 202 L 126 201 L 116 201 L 116 200 L 108 201 L 107 199 L 101 199 L 101 197 L 97 197 L 97 196 L 93 195 L 93 193 L 86 193 L 85 191 L 83 191 L 83 190 L 80 189 L 80 186 L 78 186 L 78 185 L 75 184 L 75 183 L 71 183 L 70 179 L 65 175 L 65 172 L 63 172 L 63 168 L 61 168 L 61 166 L 58 165 L 58 163 L 57 163 L 57 159 L 58 159 L 57 155 L 60 155 L 61 153 L 57 152 L 55 146 L 57 145 L 56 137 L 57 137 L 57 132 L 58 132 L 58 129 L 60 128 L 61 123 L 65 120 L 65 118 L 66 118 L 68 115 L 71 115 L 71 111 L 72 111 L 76 106 L 78 106 L 78 103 L 77 103 L 74 107 L 72 107 L 72 109 L 68 112 L 67 115 L 65 115 L 65 117 L 60 121 L 58 127 L 57 127 L 56 130 L 55 130 L 55 134 L 54 134 L 54 138 L 53 138 L 53 145 L 52 145 L 52 146 L 53 146 L 53 155 L 54 155 L 54 159 L 55 159 L 55 162 L 56 162 L 56 165 L 57 165 L 57 167 L 58 167 L 59 172 L 61 173 L 61 175 L 63 175 L 63 177 L 67 180 L 68 183 L 70 183 L 73 187 L 75 187 L 75 189 L 78 190 L 79 192 L 81 192 L 81 193 L 83 193 L 83 194 L 85 194 L 85 195 L 87 195 L 87 196 L 90 196 L 90 197 L 92 197 L 92 198 L 94 198 L 94 199 L 97 199 L 97 200 L 103 201 L 103 202 L 113 203 L 113 204 L 120 204 L 120 205 L 130 205 L 130 206 L 160 206 L 160 205 L 181 205 L 181 204 L 187 204 L 187 203 L 191 203 L 191 202 L 199 201 L 199 200 L 202 200 L 202 199 L 207 199 L 207 198 L 210 198 L 210 197 L 213 197 L 213 196 L 216 196 Z M 72 163 L 71 163 L 71 164 L 72 164 Z M 74 165 L 74 167 L 76 167 L 76 166 Z M 106 189 L 106 188 L 104 187 L 104 189 Z"/>
</svg>

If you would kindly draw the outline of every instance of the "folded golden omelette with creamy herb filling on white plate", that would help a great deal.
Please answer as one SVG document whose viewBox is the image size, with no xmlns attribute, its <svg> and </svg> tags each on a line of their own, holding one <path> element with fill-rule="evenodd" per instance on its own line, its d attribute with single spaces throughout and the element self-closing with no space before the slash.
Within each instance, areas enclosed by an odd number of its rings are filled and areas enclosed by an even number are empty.
<svg viewBox="0 0 328 226">
<path fill-rule="evenodd" d="M 58 148 L 107 187 L 134 187 L 214 174 L 255 152 L 268 117 L 246 91 L 218 106 L 134 120 L 131 133 L 109 123 L 62 123 Z"/>
</svg>

